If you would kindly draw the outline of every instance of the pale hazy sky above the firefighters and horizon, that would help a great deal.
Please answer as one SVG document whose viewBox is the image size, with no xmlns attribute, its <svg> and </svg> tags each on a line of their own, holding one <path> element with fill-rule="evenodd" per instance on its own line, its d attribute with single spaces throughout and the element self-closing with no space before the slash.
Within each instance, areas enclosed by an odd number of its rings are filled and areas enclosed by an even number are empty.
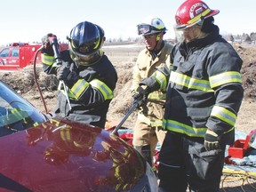
<svg viewBox="0 0 256 192">
<path fill-rule="evenodd" d="M 256 1 L 205 0 L 218 9 L 215 24 L 221 34 L 256 32 Z M 1 1 L 0 45 L 40 41 L 52 32 L 66 41 L 71 28 L 88 20 L 100 25 L 107 38 L 137 37 L 136 25 L 148 16 L 157 16 L 168 29 L 165 38 L 174 37 L 174 15 L 183 0 L 12 0 Z"/>
</svg>

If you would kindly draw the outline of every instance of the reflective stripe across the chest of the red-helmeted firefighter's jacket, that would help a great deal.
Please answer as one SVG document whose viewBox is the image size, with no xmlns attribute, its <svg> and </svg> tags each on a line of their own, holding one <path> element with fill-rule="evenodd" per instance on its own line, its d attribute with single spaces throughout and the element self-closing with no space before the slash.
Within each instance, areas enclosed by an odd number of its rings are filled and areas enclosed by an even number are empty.
<svg viewBox="0 0 256 192">
<path fill-rule="evenodd" d="M 180 84 L 182 86 L 188 87 L 188 89 L 196 89 L 204 92 L 213 92 L 209 81 L 196 79 L 174 71 L 172 71 L 171 73 L 170 81 L 175 84 Z"/>
</svg>

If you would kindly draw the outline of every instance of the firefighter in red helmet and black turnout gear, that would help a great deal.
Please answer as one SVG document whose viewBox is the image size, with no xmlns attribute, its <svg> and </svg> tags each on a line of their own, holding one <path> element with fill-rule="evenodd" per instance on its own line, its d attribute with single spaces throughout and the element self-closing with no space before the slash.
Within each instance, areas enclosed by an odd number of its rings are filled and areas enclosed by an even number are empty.
<svg viewBox="0 0 256 192">
<path fill-rule="evenodd" d="M 174 26 L 180 42 L 172 49 L 171 63 L 140 81 L 150 92 L 167 84 L 167 133 L 158 167 L 162 191 L 220 190 L 225 149 L 235 140 L 244 89 L 243 60 L 213 23 L 218 13 L 200 0 L 181 4 Z"/>
</svg>

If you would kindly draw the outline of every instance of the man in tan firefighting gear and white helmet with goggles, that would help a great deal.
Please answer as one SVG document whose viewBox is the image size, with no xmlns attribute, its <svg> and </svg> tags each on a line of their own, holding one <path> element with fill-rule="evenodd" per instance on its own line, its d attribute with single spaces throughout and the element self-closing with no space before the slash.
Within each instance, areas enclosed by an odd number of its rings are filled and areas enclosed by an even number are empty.
<svg viewBox="0 0 256 192">
<path fill-rule="evenodd" d="M 140 80 L 151 76 L 156 68 L 164 65 L 172 51 L 172 44 L 164 41 L 166 28 L 164 22 L 157 17 L 150 17 L 138 26 L 138 34 L 143 37 L 146 48 L 142 50 L 133 68 L 132 95 L 137 99 Z M 163 143 L 165 132 L 162 130 L 164 115 L 165 90 L 152 92 L 148 101 L 140 108 L 134 126 L 132 145 L 148 161 L 152 160 L 157 141 Z M 153 166 L 154 167 L 154 166 Z"/>
</svg>

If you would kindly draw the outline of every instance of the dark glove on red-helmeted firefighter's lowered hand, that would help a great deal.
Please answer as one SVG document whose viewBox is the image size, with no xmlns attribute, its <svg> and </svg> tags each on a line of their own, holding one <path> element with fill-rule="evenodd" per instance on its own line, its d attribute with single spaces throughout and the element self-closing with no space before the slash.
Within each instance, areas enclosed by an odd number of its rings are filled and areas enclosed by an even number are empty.
<svg viewBox="0 0 256 192">
<path fill-rule="evenodd" d="M 211 129 L 208 129 L 204 135 L 204 148 L 207 151 L 220 149 L 220 137 Z"/>
</svg>

